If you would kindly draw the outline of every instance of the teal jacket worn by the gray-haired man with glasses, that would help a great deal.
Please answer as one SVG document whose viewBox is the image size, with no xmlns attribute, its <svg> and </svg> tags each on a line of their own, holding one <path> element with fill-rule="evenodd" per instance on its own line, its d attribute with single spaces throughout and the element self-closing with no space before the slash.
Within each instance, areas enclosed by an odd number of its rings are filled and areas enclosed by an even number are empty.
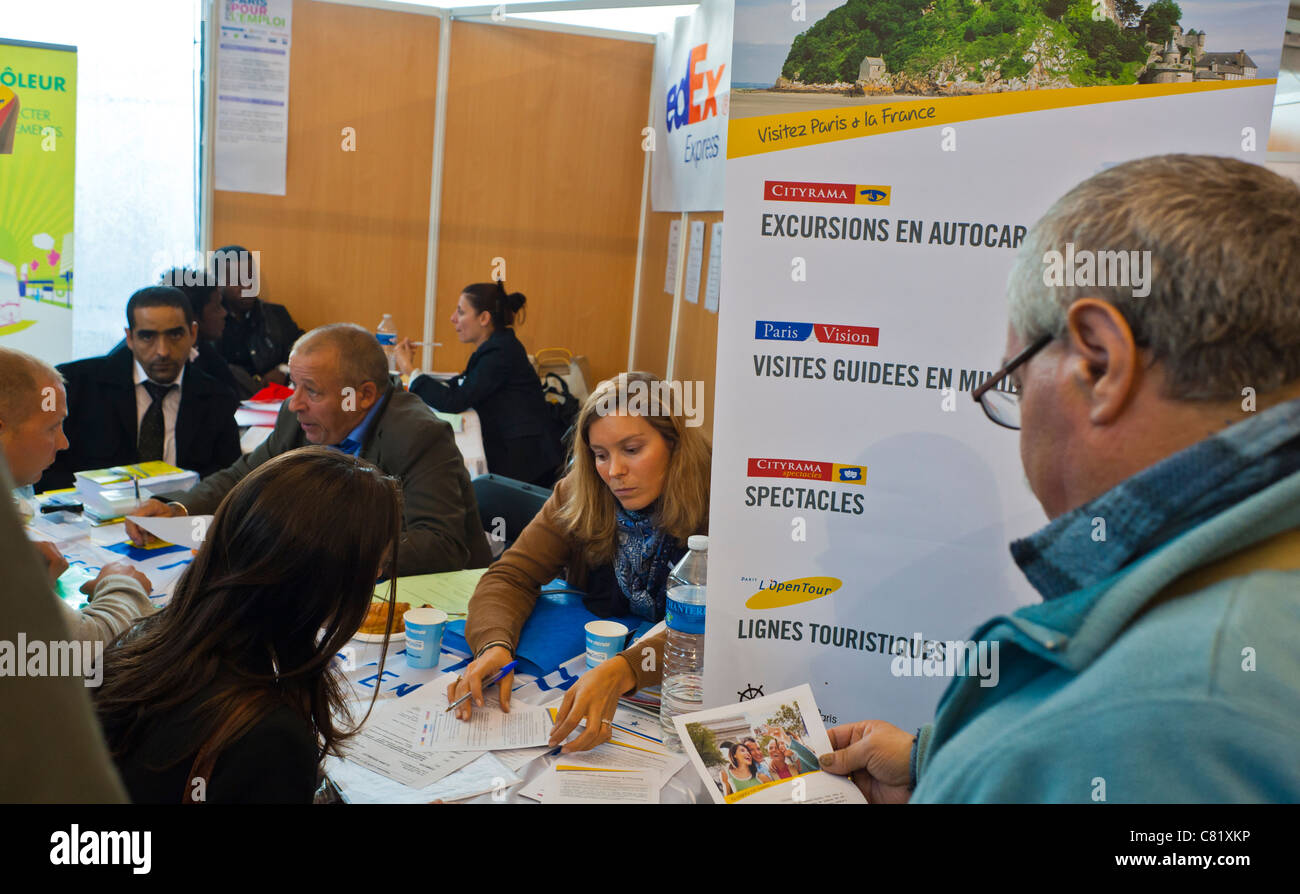
<svg viewBox="0 0 1300 894">
<path fill-rule="evenodd" d="M 1300 570 L 1147 611 L 1184 573 L 1297 528 L 1292 473 L 1104 581 L 987 622 L 975 639 L 1000 641 L 1000 680 L 949 685 L 918 734 L 911 802 L 1300 802 Z"/>
</svg>

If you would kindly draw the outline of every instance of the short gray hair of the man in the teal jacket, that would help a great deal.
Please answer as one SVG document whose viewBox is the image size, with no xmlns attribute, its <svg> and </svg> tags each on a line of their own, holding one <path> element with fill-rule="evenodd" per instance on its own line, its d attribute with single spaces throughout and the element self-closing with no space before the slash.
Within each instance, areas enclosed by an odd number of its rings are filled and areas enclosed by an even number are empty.
<svg viewBox="0 0 1300 894">
<path fill-rule="evenodd" d="M 1150 292 L 1045 285 L 1048 253 L 1067 244 L 1149 251 Z M 1165 155 L 1095 174 L 1052 205 L 1020 246 L 1008 300 L 1024 343 L 1063 335 L 1080 298 L 1109 301 L 1164 364 L 1166 398 L 1227 400 L 1300 378 L 1297 290 L 1300 187 L 1235 159 Z"/>
</svg>

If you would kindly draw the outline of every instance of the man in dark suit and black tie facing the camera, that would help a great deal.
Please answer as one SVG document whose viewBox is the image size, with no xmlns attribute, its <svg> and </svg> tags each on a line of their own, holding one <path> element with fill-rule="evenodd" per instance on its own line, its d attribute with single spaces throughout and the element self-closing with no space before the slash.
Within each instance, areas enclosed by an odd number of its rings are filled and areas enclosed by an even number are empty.
<svg viewBox="0 0 1300 894">
<path fill-rule="evenodd" d="M 235 395 L 188 363 L 198 322 L 169 286 L 126 303 L 126 343 L 107 356 L 62 364 L 69 447 L 38 490 L 70 487 L 73 473 L 162 460 L 200 477 L 239 456 Z"/>
</svg>

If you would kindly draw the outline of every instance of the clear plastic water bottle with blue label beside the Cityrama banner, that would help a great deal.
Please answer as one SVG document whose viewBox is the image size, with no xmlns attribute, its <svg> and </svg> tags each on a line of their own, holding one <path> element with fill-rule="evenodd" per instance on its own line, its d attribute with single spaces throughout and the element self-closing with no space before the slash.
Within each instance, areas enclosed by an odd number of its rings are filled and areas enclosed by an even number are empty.
<svg viewBox="0 0 1300 894">
<path fill-rule="evenodd" d="M 668 641 L 663 647 L 663 683 L 659 687 L 659 725 L 663 743 L 681 751 L 672 719 L 699 711 L 705 702 L 705 582 L 708 538 L 694 534 L 690 552 L 668 574 Z"/>
</svg>

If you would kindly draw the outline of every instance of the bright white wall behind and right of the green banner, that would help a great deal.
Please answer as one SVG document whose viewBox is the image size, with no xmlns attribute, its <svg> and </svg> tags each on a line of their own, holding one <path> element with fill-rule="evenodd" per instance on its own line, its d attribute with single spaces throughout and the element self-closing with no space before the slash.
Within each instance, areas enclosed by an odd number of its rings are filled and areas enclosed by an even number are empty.
<svg viewBox="0 0 1300 894">
<path fill-rule="evenodd" d="M 73 357 L 112 347 L 159 256 L 196 246 L 200 21 L 198 0 L 4 4 L 0 36 L 78 51 Z"/>
</svg>

